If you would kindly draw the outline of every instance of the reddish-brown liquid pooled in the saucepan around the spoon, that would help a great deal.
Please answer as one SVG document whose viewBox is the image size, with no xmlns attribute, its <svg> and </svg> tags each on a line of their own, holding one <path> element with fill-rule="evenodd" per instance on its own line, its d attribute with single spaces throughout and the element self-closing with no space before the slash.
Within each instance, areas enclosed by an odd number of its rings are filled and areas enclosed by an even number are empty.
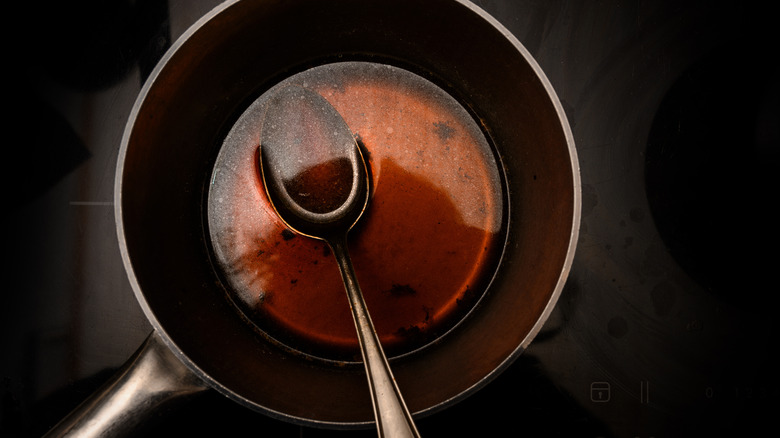
<svg viewBox="0 0 780 438">
<path fill-rule="evenodd" d="M 292 76 L 342 115 L 367 155 L 371 200 L 350 253 L 390 355 L 452 328 L 481 296 L 501 251 L 502 184 L 468 112 L 433 83 L 383 64 L 327 64 Z M 232 300 L 271 337 L 313 355 L 359 354 L 327 245 L 288 230 L 258 177 L 258 98 L 226 137 L 212 175 L 209 232 Z M 359 357 L 359 356 L 358 356 Z"/>
</svg>

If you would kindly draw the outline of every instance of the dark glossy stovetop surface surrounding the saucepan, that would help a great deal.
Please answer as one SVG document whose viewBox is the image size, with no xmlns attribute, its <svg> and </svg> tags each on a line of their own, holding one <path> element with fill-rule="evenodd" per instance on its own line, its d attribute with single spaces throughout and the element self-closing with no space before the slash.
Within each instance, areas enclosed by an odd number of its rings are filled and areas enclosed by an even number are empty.
<svg viewBox="0 0 780 438">
<path fill-rule="evenodd" d="M 14 32 L 19 74 L 6 82 L 6 130 L 19 135 L 3 172 L 3 436 L 40 436 L 151 331 L 116 240 L 117 152 L 146 75 L 219 2 L 45 3 L 13 14 L 28 24 Z M 523 43 L 562 101 L 582 228 L 562 296 L 528 351 L 420 419 L 423 436 L 763 430 L 780 396 L 772 15 L 710 1 L 475 3 Z M 192 432 L 375 436 L 283 423 L 211 392 L 159 412 L 146 430 Z"/>
</svg>

